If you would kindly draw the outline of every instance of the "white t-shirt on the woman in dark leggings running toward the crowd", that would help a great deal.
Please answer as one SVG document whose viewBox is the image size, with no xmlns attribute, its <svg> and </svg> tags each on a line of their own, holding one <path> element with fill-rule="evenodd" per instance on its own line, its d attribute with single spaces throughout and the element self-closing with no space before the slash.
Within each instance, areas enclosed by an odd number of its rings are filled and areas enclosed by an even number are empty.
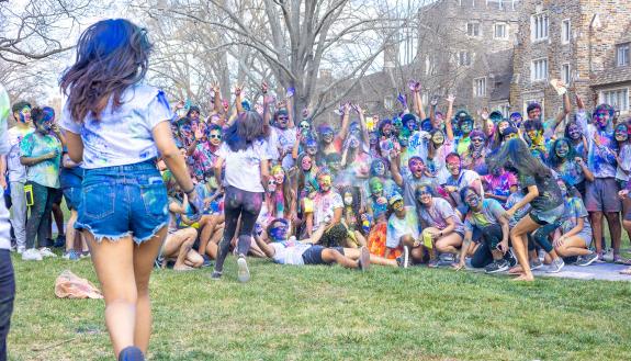
<svg viewBox="0 0 631 361">
<path fill-rule="evenodd" d="M 217 156 L 225 160 L 226 173 L 224 185 L 232 185 L 243 191 L 261 193 L 264 192 L 261 183 L 261 160 L 269 160 L 268 142 L 255 140 L 246 150 L 233 151 L 223 143 Z"/>
</svg>

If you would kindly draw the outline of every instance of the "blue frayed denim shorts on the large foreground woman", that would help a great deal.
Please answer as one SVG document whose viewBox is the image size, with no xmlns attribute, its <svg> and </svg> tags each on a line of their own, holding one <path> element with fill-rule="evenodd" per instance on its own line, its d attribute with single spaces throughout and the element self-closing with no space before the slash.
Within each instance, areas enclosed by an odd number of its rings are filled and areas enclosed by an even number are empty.
<svg viewBox="0 0 631 361">
<path fill-rule="evenodd" d="M 75 228 L 97 241 L 131 235 L 139 245 L 168 222 L 167 188 L 154 160 L 86 170 Z"/>
</svg>

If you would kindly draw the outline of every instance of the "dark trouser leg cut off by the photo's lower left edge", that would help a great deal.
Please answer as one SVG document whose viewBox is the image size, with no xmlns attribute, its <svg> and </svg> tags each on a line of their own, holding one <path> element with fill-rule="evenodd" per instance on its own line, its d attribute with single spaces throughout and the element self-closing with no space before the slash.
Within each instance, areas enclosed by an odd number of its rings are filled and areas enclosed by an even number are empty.
<svg viewBox="0 0 631 361">
<path fill-rule="evenodd" d="M 7 360 L 7 336 L 15 298 L 15 278 L 8 249 L 0 249 L 0 361 Z"/>
</svg>

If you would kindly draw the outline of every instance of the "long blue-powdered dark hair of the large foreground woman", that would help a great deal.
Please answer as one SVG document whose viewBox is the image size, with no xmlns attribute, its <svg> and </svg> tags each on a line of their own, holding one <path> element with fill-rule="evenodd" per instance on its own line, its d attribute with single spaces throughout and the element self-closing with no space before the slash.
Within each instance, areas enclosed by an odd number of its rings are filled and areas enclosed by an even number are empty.
<svg viewBox="0 0 631 361">
<path fill-rule="evenodd" d="M 123 92 L 145 78 L 151 44 L 147 32 L 125 19 L 102 20 L 88 27 L 77 43 L 77 59 L 59 82 L 72 119 L 95 120 L 113 95 L 121 106 Z"/>
</svg>

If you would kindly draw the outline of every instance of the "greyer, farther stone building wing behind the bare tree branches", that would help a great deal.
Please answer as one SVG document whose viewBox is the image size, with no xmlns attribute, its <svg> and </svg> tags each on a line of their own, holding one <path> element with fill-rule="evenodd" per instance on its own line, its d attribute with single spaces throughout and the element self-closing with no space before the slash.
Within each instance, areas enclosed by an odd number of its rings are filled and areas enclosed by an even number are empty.
<svg viewBox="0 0 631 361">
<path fill-rule="evenodd" d="M 348 99 L 365 104 L 371 114 L 391 116 L 401 110 L 397 94 L 408 92 L 407 81 L 416 79 L 426 105 L 432 95 L 452 93 L 457 109 L 507 112 L 520 7 L 517 0 L 438 0 L 424 7 L 418 34 L 386 48 L 383 70 L 360 79 Z"/>
</svg>

